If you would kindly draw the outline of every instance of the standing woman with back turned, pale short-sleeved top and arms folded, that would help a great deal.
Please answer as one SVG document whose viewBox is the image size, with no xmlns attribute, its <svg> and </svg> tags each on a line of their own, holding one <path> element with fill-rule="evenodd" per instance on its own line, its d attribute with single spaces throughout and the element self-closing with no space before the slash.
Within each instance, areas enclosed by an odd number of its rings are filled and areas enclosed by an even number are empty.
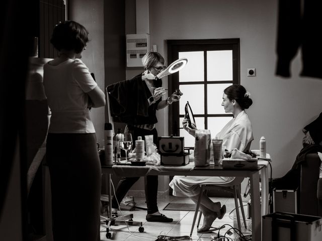
<svg viewBox="0 0 322 241">
<path fill-rule="evenodd" d="M 105 94 L 82 62 L 88 31 L 59 23 L 50 42 L 58 57 L 44 65 L 51 109 L 46 160 L 50 171 L 53 237 L 100 240 L 101 165 L 89 108 L 105 105 Z M 84 220 L 84 222 L 79 222 Z"/>
</svg>

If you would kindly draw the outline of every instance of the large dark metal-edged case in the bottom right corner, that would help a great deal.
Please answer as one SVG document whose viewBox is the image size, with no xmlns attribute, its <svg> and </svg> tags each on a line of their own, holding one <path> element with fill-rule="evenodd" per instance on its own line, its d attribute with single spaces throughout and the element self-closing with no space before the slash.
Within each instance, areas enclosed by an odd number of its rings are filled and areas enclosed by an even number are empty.
<svg viewBox="0 0 322 241">
<path fill-rule="evenodd" d="M 320 241 L 322 217 L 287 212 L 263 216 L 262 241 Z"/>
</svg>

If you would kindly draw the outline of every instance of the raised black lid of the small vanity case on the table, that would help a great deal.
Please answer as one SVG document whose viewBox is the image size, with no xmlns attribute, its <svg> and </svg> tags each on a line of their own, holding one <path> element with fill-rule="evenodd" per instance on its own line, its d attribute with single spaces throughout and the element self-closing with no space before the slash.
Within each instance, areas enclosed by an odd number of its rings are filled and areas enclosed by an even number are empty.
<svg viewBox="0 0 322 241">
<path fill-rule="evenodd" d="M 184 137 L 158 137 L 158 151 L 162 155 L 184 155 Z"/>
</svg>

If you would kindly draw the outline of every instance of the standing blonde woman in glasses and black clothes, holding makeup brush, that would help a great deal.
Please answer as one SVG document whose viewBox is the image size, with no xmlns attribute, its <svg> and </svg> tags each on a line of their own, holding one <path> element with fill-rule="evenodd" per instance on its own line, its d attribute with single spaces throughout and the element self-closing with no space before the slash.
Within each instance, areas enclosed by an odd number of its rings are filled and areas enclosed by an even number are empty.
<svg viewBox="0 0 322 241">
<path fill-rule="evenodd" d="M 180 95 L 173 93 L 166 99 L 162 87 L 162 80 L 155 76 L 165 69 L 165 59 L 157 52 L 148 52 L 142 58 L 144 72 L 132 79 L 121 81 L 107 87 L 110 95 L 110 110 L 112 116 L 117 116 L 120 122 L 126 123 L 133 141 L 137 137 L 153 135 L 153 143 L 157 144 L 156 110 L 163 109 L 180 99 Z M 139 177 L 123 177 L 116 188 L 112 199 L 112 213 L 117 216 L 118 203 L 122 201 L 128 190 Z M 144 190 L 147 205 L 146 220 L 150 222 L 172 222 L 158 211 L 157 186 L 158 176 L 144 178 Z"/>
</svg>

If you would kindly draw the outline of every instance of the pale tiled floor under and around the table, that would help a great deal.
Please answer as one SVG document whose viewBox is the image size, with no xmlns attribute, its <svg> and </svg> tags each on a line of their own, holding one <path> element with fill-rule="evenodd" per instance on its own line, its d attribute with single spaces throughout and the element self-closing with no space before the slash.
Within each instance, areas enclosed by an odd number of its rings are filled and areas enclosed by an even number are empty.
<svg viewBox="0 0 322 241">
<path fill-rule="evenodd" d="M 223 224 L 229 224 L 235 228 L 237 228 L 237 221 L 236 221 L 236 214 L 235 211 L 232 211 L 235 208 L 233 198 L 211 198 L 214 202 L 220 201 L 221 205 L 225 204 L 227 207 L 227 212 L 225 216 L 218 220 L 216 219 L 212 226 L 219 227 Z M 135 198 L 136 205 L 138 207 L 146 207 L 145 199 L 144 198 Z M 140 221 L 143 222 L 144 232 L 138 231 L 138 226 L 125 226 L 125 225 L 118 225 L 118 226 L 111 226 L 110 232 L 112 234 L 111 238 L 106 238 L 106 225 L 101 225 L 101 240 L 151 240 L 154 241 L 157 239 L 158 235 L 168 235 L 168 236 L 183 236 L 183 235 L 190 235 L 191 224 L 194 216 L 194 211 L 172 211 L 172 210 L 163 210 L 165 206 L 169 202 L 177 202 L 177 203 L 193 203 L 189 198 L 179 198 L 170 196 L 165 199 L 158 199 L 158 207 L 161 213 L 165 214 L 168 217 L 174 219 L 171 223 L 160 223 L 160 222 L 146 222 L 145 210 L 136 209 L 135 211 L 122 211 L 122 214 L 133 213 L 134 218 L 133 221 Z M 247 218 L 247 202 L 244 202 L 244 210 L 246 214 L 246 224 L 243 225 L 243 221 L 241 220 L 241 225 L 243 226 L 241 232 L 244 235 L 251 234 L 251 230 L 249 227 L 251 226 L 251 219 Z M 232 212 L 231 212 L 232 211 Z M 230 213 L 231 212 L 231 213 Z M 230 214 L 229 214 L 230 213 Z M 241 216 L 241 213 L 240 213 Z M 202 225 L 202 218 L 200 221 L 200 226 Z M 230 228 L 230 226 L 226 225 L 224 228 L 220 230 L 220 235 L 224 235 L 226 231 Z M 229 236 L 229 240 L 238 240 L 239 236 L 231 230 L 233 233 Z M 197 233 L 197 227 L 195 226 L 193 234 L 190 240 L 194 241 L 203 241 L 203 240 L 216 240 L 217 231 L 211 233 Z M 214 239 L 215 238 L 215 239 Z M 189 240 L 189 239 L 187 239 Z M 228 239 L 226 239 L 228 240 Z"/>
</svg>

